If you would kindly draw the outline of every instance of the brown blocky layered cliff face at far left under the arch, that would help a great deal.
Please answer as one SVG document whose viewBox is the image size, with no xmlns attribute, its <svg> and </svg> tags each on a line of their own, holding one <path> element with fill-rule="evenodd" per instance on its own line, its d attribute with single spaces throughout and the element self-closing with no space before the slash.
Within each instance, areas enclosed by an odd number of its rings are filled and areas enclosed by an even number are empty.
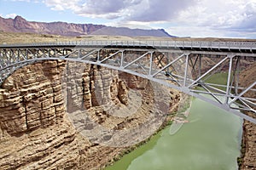
<svg viewBox="0 0 256 170">
<path fill-rule="evenodd" d="M 1 89 L 1 128 L 19 136 L 60 123 L 65 111 L 61 91 L 62 61 L 28 65 L 15 71 Z"/>
</svg>

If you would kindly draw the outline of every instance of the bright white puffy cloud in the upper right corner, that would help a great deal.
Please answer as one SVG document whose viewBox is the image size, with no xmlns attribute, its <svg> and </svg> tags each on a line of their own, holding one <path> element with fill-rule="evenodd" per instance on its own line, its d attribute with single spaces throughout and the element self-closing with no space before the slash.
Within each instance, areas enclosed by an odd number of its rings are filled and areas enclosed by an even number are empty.
<svg viewBox="0 0 256 170">
<path fill-rule="evenodd" d="M 234 28 L 250 23 L 256 14 L 254 0 L 201 0 L 198 5 L 181 11 L 177 21 L 191 26 Z M 254 22 L 255 23 L 255 22 Z"/>
</svg>

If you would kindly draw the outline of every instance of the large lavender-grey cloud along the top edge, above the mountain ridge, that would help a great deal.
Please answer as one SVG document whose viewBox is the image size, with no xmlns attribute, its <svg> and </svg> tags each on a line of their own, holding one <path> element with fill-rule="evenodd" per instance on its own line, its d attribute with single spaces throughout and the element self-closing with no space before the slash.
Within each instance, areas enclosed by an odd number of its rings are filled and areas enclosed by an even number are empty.
<svg viewBox="0 0 256 170">
<path fill-rule="evenodd" d="M 197 0 L 44 0 L 54 10 L 73 10 L 91 18 L 130 21 L 168 21 Z"/>
</svg>

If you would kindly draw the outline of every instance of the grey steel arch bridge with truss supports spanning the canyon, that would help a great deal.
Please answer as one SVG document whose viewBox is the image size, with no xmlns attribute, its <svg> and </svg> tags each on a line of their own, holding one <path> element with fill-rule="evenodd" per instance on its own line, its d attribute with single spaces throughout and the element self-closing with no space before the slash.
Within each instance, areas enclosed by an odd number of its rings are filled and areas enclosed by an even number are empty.
<svg viewBox="0 0 256 170">
<path fill-rule="evenodd" d="M 241 70 L 256 61 L 256 42 L 81 41 L 0 45 L 0 85 L 33 62 L 62 59 L 102 65 L 203 99 L 256 123 L 256 82 L 242 86 Z M 225 72 L 225 83 L 209 81 Z M 209 96 L 211 96 L 209 98 Z"/>
</svg>

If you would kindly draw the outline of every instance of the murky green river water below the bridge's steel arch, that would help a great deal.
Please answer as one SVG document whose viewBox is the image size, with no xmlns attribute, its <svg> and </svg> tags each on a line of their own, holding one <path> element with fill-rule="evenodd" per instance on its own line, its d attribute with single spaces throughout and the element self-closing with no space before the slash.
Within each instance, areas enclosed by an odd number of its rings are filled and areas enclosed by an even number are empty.
<svg viewBox="0 0 256 170">
<path fill-rule="evenodd" d="M 166 127 L 147 144 L 107 170 L 235 170 L 240 156 L 242 120 L 201 99 L 193 99 L 177 133 Z"/>
</svg>

